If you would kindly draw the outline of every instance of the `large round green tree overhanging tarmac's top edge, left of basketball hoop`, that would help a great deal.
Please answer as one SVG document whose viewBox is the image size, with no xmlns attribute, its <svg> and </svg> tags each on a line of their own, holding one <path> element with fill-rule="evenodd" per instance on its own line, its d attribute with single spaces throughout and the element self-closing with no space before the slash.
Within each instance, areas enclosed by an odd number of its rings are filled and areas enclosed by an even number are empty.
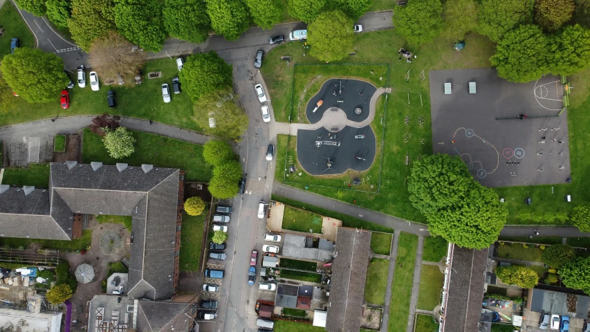
<svg viewBox="0 0 590 332">
<path fill-rule="evenodd" d="M 532 24 L 509 31 L 498 42 L 490 57 L 498 76 L 510 82 L 538 80 L 548 73 L 548 41 L 543 31 Z"/>
</svg>

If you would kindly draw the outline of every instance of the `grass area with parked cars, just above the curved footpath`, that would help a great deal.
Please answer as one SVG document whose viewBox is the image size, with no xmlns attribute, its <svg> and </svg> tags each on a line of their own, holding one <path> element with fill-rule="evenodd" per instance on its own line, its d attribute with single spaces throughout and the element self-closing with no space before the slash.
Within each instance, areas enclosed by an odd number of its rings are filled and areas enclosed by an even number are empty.
<svg viewBox="0 0 590 332">
<path fill-rule="evenodd" d="M 8 40 L 10 43 L 10 39 L 5 38 L 6 36 L 1 37 L 0 41 Z M 0 44 L 0 46 L 2 45 Z M 0 49 L 4 50 L 3 47 Z M 8 47 L 8 50 L 10 50 L 10 47 Z M 152 71 L 161 71 L 162 77 L 148 80 L 147 73 Z M 76 85 L 73 89 L 69 89 L 71 105 L 68 109 L 62 109 L 57 95 L 55 96 L 55 102 L 43 104 L 29 104 L 19 98 L 13 109 L 0 112 L 0 127 L 39 119 L 98 115 L 108 112 L 119 116 L 153 120 L 172 124 L 176 127 L 201 131 L 201 128 L 192 120 L 194 114 L 193 104 L 187 93 L 172 95 L 172 102 L 168 104 L 165 104 L 162 100 L 160 86 L 163 83 L 171 84 L 172 77 L 178 75 L 175 60 L 165 58 L 149 61 L 145 64 L 142 72 L 144 73 L 143 83 L 133 87 L 105 86 L 102 82 L 106 77 L 100 77 L 102 86 L 98 92 L 92 91 L 89 86 L 80 89 Z M 88 75 L 86 73 L 86 77 Z M 116 109 L 109 109 L 107 106 L 107 91 L 109 89 L 116 92 L 118 102 Z"/>
</svg>

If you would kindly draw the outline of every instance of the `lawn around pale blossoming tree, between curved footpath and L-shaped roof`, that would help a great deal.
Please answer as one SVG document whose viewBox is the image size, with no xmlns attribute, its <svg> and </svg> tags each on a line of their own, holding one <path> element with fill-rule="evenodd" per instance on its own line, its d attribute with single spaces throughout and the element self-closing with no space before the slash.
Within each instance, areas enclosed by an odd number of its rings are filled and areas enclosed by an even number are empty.
<svg viewBox="0 0 590 332">
<path fill-rule="evenodd" d="M 207 182 L 212 167 L 203 159 L 203 146 L 159 136 L 143 131 L 132 131 L 136 138 L 135 152 L 128 158 L 114 159 L 104 148 L 102 138 L 90 129 L 84 129 L 82 162 L 101 161 L 107 165 L 128 163 L 131 166 L 151 164 L 155 167 L 173 167 L 186 171 L 185 181 Z"/>
</svg>

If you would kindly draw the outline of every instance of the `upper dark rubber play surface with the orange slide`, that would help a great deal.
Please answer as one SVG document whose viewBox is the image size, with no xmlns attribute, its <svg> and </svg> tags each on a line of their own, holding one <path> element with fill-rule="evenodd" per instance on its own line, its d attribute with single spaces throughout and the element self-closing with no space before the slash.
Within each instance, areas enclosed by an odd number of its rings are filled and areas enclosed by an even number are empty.
<svg viewBox="0 0 590 332">
<path fill-rule="evenodd" d="M 340 89 L 340 83 L 342 83 L 342 89 Z M 309 122 L 315 123 L 322 119 L 324 111 L 331 107 L 338 107 L 346 113 L 348 120 L 361 122 L 369 117 L 369 102 L 375 91 L 377 88 L 369 82 L 338 78 L 327 80 L 320 92 L 309 100 L 306 116 Z M 319 100 L 324 103 L 314 113 L 313 109 Z M 355 113 L 356 108 L 361 109 L 360 114 Z"/>
</svg>

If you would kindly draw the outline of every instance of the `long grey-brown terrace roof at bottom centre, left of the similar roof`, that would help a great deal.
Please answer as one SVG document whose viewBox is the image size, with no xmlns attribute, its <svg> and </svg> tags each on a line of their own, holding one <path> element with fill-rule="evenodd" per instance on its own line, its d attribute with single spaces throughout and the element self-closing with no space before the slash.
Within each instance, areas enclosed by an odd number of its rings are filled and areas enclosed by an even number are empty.
<svg viewBox="0 0 590 332">
<path fill-rule="evenodd" d="M 371 232 L 338 228 L 326 331 L 358 332 L 360 330 L 370 246 Z"/>
</svg>

